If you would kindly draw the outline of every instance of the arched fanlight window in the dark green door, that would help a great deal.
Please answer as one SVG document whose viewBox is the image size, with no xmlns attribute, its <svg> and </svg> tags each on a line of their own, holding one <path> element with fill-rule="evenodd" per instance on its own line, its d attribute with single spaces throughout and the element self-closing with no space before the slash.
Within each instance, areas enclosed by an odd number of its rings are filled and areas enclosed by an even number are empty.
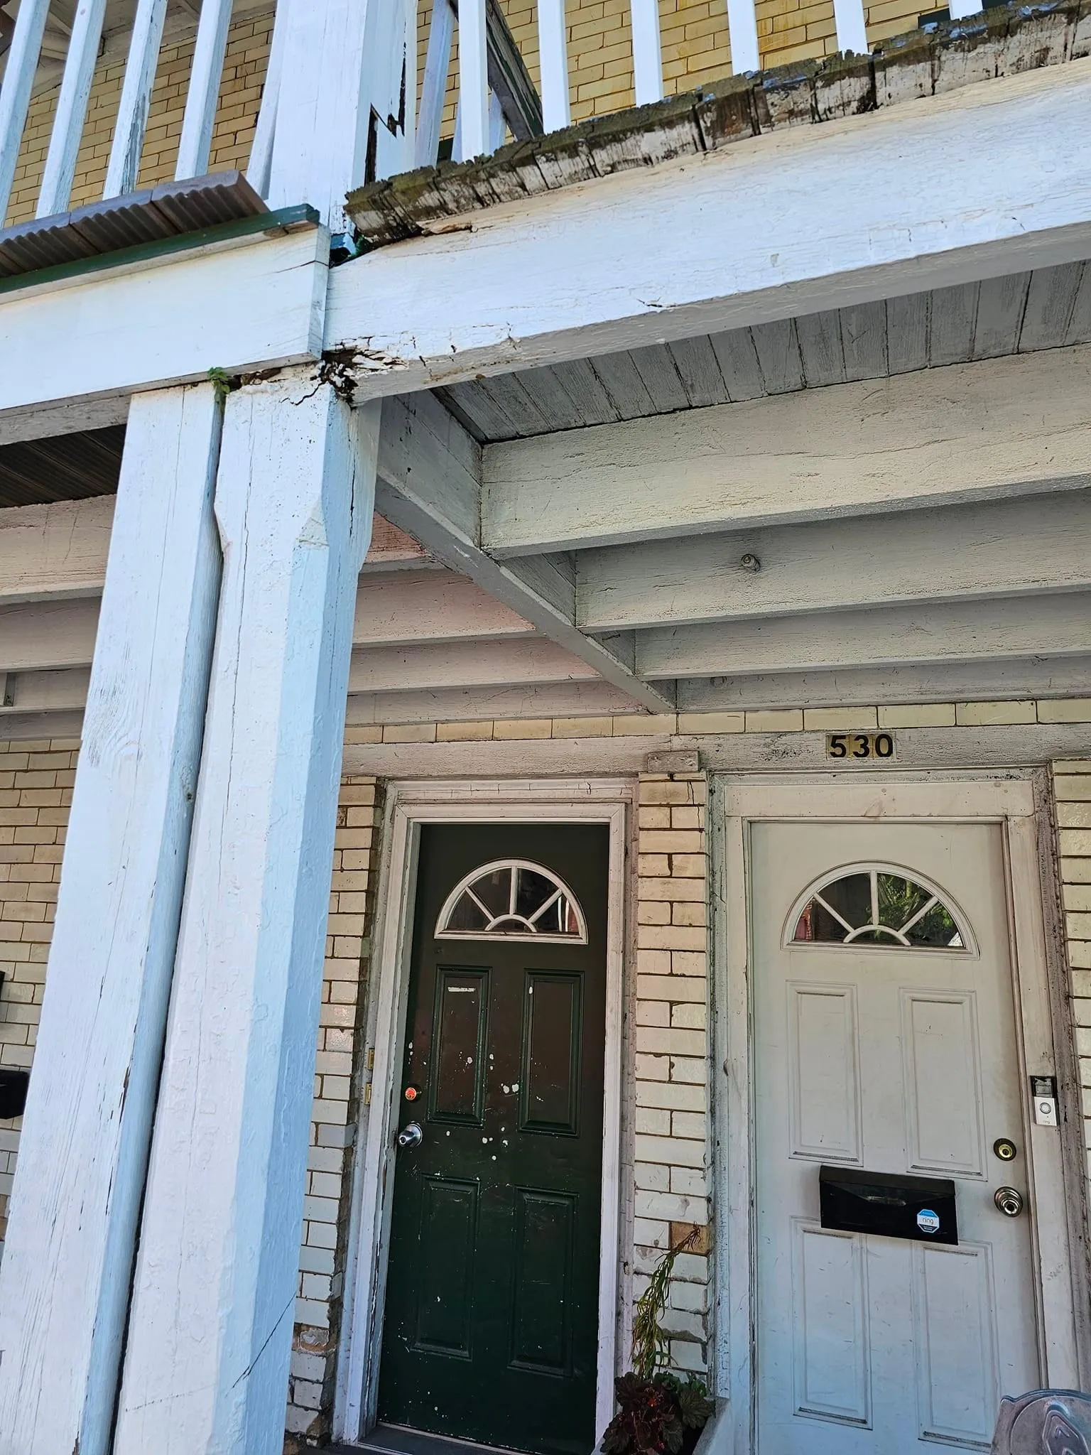
<svg viewBox="0 0 1091 1455">
<path fill-rule="evenodd" d="M 551 869 L 497 858 L 454 886 L 439 911 L 435 937 L 586 944 L 588 922 L 576 896 Z"/>
</svg>

